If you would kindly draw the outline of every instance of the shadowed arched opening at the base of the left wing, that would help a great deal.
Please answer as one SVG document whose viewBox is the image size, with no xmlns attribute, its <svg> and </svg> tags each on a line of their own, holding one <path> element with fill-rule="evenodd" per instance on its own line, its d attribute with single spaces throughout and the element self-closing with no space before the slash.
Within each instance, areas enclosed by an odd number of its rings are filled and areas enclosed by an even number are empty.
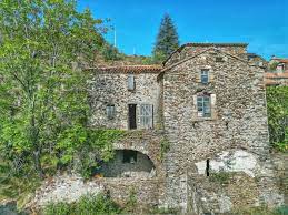
<svg viewBox="0 0 288 215">
<path fill-rule="evenodd" d="M 133 150 L 116 150 L 115 157 L 101 166 L 103 177 L 153 177 L 156 168 L 143 153 Z"/>
</svg>

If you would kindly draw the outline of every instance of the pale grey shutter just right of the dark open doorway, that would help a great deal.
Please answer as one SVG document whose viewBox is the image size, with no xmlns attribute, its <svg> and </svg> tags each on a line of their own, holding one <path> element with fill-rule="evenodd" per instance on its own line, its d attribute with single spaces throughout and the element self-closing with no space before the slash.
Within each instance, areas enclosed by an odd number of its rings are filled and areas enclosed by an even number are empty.
<svg viewBox="0 0 288 215">
<path fill-rule="evenodd" d="M 152 129 L 153 127 L 153 105 L 141 104 L 139 119 L 140 119 L 141 127 Z"/>
</svg>

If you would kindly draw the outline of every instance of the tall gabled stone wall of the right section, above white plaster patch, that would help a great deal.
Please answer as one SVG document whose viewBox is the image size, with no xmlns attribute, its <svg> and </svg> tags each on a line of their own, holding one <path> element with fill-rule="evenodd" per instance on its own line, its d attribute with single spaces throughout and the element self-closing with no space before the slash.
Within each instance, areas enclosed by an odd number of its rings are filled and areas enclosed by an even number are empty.
<svg viewBox="0 0 288 215">
<path fill-rule="evenodd" d="M 218 48 L 208 49 L 163 73 L 163 126 L 171 143 L 165 160 L 167 205 L 187 209 L 189 170 L 195 163 L 207 161 L 228 149 L 245 149 L 259 155 L 257 160 L 247 157 L 252 166 L 268 166 L 261 173 L 261 181 L 257 182 L 257 187 L 260 187 L 257 197 L 271 205 L 281 203 L 269 157 L 264 70 L 226 52 Z M 217 62 L 217 57 L 224 61 Z M 212 79 L 202 84 L 199 71 L 207 68 L 212 72 Z M 215 117 L 193 117 L 197 111 L 193 96 L 200 93 L 215 95 L 211 104 Z M 247 173 L 250 174 L 246 174 L 247 177 L 251 177 L 249 170 Z"/>
</svg>

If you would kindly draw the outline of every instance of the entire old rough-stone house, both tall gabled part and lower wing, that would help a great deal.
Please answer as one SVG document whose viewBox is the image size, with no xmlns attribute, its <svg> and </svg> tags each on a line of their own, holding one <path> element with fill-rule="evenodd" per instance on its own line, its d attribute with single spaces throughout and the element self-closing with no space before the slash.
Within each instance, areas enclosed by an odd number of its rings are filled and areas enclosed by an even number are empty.
<svg viewBox="0 0 288 215">
<path fill-rule="evenodd" d="M 248 61 L 246 47 L 189 43 L 162 69 L 93 69 L 91 126 L 131 131 L 113 144 L 116 157 L 103 165 L 103 177 L 91 183 L 119 202 L 132 188 L 143 205 L 189 214 L 281 205 L 269 154 L 265 70 Z M 225 184 L 211 181 L 224 173 Z"/>
</svg>

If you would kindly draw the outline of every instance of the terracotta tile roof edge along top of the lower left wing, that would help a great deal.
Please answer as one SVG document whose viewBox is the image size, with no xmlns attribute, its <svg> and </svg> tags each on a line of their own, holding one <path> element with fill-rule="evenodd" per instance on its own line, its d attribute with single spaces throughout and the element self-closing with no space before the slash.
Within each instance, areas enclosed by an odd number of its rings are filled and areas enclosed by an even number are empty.
<svg viewBox="0 0 288 215">
<path fill-rule="evenodd" d="M 103 68 L 88 68 L 87 70 L 98 70 L 111 73 L 160 73 L 161 65 L 119 65 Z"/>
</svg>

